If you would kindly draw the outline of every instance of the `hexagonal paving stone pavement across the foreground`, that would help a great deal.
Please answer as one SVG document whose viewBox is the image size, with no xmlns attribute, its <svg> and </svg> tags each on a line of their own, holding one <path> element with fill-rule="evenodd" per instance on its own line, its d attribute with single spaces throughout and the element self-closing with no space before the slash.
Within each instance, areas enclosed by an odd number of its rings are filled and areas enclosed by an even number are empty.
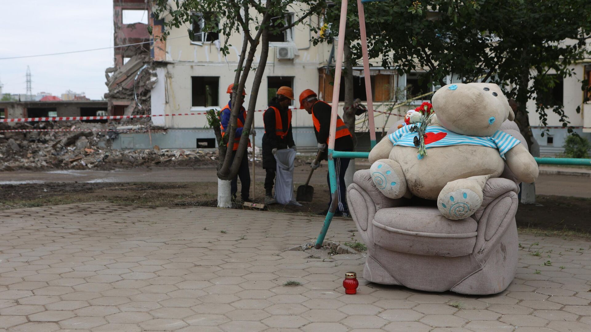
<svg viewBox="0 0 591 332">
<path fill-rule="evenodd" d="M 282 251 L 322 217 L 89 203 L 0 212 L 0 332 L 591 331 L 591 246 L 520 235 L 517 277 L 486 297 L 385 287 L 363 255 Z M 329 239 L 355 240 L 335 219 Z M 285 287 L 288 280 L 300 286 Z"/>
</svg>

